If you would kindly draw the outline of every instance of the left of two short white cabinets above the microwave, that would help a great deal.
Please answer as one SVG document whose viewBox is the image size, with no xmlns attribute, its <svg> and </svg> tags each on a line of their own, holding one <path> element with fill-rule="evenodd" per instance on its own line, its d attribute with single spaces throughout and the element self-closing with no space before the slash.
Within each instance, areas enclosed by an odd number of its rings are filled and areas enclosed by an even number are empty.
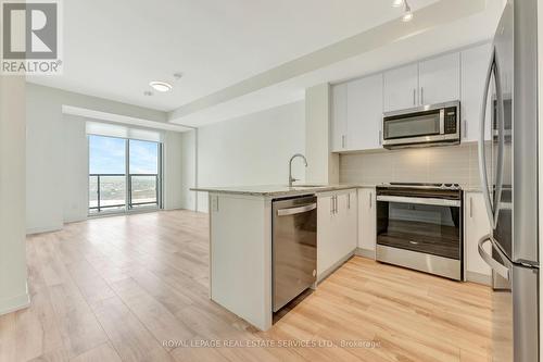
<svg viewBox="0 0 543 362">
<path fill-rule="evenodd" d="M 418 64 L 384 72 L 384 112 L 414 108 L 418 104 Z"/>
</svg>

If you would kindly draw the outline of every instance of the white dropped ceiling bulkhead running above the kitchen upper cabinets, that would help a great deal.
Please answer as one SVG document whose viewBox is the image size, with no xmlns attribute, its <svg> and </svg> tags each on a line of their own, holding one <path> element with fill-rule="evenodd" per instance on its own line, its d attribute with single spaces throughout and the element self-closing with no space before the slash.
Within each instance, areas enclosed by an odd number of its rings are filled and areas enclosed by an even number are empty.
<svg viewBox="0 0 543 362">
<path fill-rule="evenodd" d="M 458 10 L 458 7 L 466 4 L 468 9 Z M 303 100 L 305 89 L 315 85 L 340 83 L 447 51 L 456 51 L 473 43 L 489 41 L 497 26 L 504 4 L 505 2 L 501 0 L 444 0 L 443 5 L 441 3 L 435 4 L 440 9 L 433 9 L 435 5 L 426 8 L 429 11 L 425 16 L 418 16 L 419 14 L 415 13 L 416 18 L 408 26 L 405 26 L 405 30 L 400 32 L 402 36 L 393 41 L 381 41 L 383 40 L 381 35 L 382 33 L 390 34 L 391 29 L 396 26 L 394 23 L 386 24 L 382 32 L 375 32 L 377 28 L 372 28 L 371 37 L 379 38 L 372 49 L 361 51 L 356 55 L 340 61 L 330 62 L 330 64 L 311 72 L 303 72 L 302 66 L 299 74 L 288 79 L 276 82 L 238 97 L 229 98 L 230 89 L 227 88 L 219 92 L 219 101 L 216 101 L 213 95 L 197 101 L 197 103 L 203 103 L 200 109 L 195 107 L 194 110 L 185 112 L 185 108 L 180 108 L 175 112 L 171 112 L 169 122 L 198 127 L 231 120 Z M 449 8 L 450 12 L 447 15 L 443 15 L 443 10 L 446 10 L 446 8 Z M 457 14 L 452 14 L 454 11 L 451 9 L 456 9 Z M 435 13 L 440 13 L 441 17 L 439 18 Z M 422 17 L 426 17 L 426 20 Z M 444 22 L 447 17 L 450 21 Z M 419 21 L 422 24 L 417 24 Z M 400 28 L 404 28 L 404 24 L 401 24 Z M 318 58 L 318 55 L 314 54 L 308 57 L 313 60 Z M 275 74 L 276 72 L 273 70 L 264 75 L 273 77 Z M 253 78 L 260 79 L 262 76 Z M 249 82 L 253 78 L 249 79 Z M 220 98 L 226 99 L 220 100 Z"/>
</svg>

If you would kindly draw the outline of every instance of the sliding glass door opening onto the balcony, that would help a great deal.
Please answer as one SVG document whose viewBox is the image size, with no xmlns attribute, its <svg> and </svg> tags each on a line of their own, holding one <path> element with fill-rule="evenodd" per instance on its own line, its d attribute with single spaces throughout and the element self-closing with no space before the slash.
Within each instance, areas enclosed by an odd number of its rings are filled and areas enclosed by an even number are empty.
<svg viewBox="0 0 543 362">
<path fill-rule="evenodd" d="M 161 143 L 89 135 L 89 214 L 161 207 Z"/>
</svg>

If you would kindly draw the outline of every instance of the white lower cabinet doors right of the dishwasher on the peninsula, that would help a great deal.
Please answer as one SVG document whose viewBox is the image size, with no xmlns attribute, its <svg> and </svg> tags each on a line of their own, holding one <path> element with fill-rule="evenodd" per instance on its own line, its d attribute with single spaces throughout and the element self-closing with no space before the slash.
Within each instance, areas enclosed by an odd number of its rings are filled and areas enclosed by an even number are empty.
<svg viewBox="0 0 543 362">
<path fill-rule="evenodd" d="M 317 195 L 317 279 L 321 279 L 356 249 L 356 189 Z"/>
</svg>

